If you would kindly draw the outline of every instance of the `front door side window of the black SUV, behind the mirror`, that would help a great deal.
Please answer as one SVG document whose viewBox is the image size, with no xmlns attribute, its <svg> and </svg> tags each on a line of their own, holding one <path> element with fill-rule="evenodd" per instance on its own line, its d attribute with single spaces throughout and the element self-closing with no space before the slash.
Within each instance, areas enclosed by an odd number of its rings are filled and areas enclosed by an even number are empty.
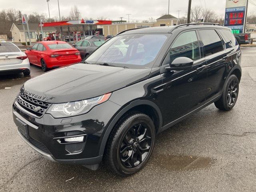
<svg viewBox="0 0 256 192">
<path fill-rule="evenodd" d="M 182 33 L 176 38 L 170 48 L 164 64 L 172 63 L 178 57 L 187 57 L 192 60 L 200 59 L 199 43 L 196 31 Z"/>
</svg>

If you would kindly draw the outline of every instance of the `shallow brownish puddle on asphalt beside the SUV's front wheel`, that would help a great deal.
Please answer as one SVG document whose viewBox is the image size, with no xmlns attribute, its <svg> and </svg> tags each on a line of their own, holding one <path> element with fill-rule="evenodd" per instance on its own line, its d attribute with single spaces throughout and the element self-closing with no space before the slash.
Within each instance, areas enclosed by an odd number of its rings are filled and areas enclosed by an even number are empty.
<svg viewBox="0 0 256 192">
<path fill-rule="evenodd" d="M 156 163 L 154 162 L 156 161 Z M 216 159 L 198 156 L 172 156 L 156 154 L 153 163 L 167 170 L 196 170 L 212 166 Z"/>
</svg>

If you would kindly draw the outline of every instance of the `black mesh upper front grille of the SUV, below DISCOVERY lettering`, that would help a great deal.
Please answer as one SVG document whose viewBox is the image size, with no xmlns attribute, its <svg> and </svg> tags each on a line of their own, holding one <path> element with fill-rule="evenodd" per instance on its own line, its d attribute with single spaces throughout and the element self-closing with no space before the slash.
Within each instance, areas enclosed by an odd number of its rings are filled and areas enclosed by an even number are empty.
<svg viewBox="0 0 256 192">
<path fill-rule="evenodd" d="M 16 97 L 16 100 L 18 104 L 22 106 L 22 108 L 28 110 L 29 112 L 31 112 L 32 114 L 38 117 L 41 117 L 50 106 L 50 103 L 36 100 L 22 92 L 18 94 L 18 96 Z M 38 111 L 34 111 L 35 107 L 40 107 L 40 109 Z"/>
</svg>

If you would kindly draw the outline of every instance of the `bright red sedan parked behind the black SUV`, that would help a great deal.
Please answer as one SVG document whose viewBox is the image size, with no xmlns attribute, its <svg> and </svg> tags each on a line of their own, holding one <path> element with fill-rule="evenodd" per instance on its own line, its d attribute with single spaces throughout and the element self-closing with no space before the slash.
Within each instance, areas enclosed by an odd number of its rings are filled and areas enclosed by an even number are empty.
<svg viewBox="0 0 256 192">
<path fill-rule="evenodd" d="M 63 41 L 42 41 L 27 48 L 26 54 L 31 64 L 49 68 L 66 66 L 82 61 L 80 52 Z"/>
</svg>

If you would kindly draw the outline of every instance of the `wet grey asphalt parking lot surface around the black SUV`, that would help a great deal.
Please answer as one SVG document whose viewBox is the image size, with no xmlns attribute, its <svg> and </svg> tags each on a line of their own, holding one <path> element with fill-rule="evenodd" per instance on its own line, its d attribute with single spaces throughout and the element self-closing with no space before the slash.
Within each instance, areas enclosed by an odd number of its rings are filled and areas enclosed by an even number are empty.
<svg viewBox="0 0 256 192">
<path fill-rule="evenodd" d="M 31 68 L 31 77 L 42 73 Z M 128 178 L 102 166 L 92 171 L 50 162 L 34 152 L 12 120 L 12 102 L 30 77 L 1 76 L 0 191 L 256 191 L 256 48 L 242 48 L 242 70 L 233 110 L 211 104 L 162 132 L 149 162 Z"/>
</svg>

